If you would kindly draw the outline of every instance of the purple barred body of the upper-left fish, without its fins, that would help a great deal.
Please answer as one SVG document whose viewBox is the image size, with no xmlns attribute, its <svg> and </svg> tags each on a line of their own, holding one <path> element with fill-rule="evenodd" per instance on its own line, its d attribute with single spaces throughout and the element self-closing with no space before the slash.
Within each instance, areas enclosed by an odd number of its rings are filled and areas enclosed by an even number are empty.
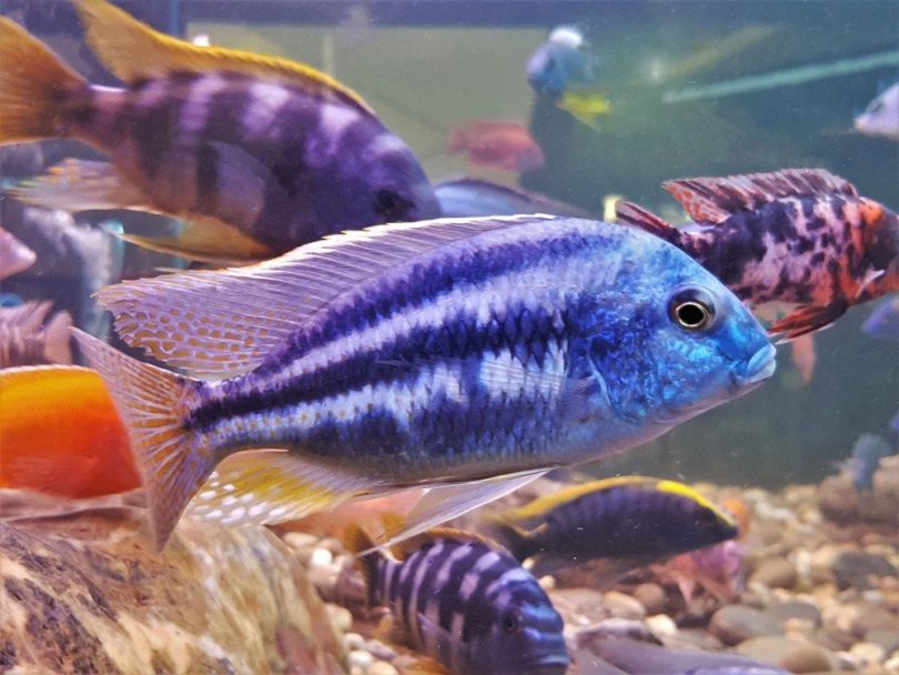
<svg viewBox="0 0 899 675">
<path fill-rule="evenodd" d="M 151 208 L 274 251 L 438 213 L 410 148 L 370 111 L 236 72 L 173 72 L 72 97 L 61 135 L 110 154 Z"/>
</svg>

